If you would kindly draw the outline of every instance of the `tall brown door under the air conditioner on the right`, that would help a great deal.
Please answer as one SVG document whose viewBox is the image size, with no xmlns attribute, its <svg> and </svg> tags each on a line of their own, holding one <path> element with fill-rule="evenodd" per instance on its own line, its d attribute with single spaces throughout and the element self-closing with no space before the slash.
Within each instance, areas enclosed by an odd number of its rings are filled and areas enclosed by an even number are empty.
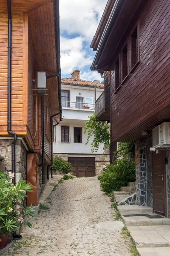
<svg viewBox="0 0 170 256">
<path fill-rule="evenodd" d="M 164 150 L 153 152 L 153 211 L 161 215 L 166 212 L 166 176 L 164 171 Z"/>
</svg>

